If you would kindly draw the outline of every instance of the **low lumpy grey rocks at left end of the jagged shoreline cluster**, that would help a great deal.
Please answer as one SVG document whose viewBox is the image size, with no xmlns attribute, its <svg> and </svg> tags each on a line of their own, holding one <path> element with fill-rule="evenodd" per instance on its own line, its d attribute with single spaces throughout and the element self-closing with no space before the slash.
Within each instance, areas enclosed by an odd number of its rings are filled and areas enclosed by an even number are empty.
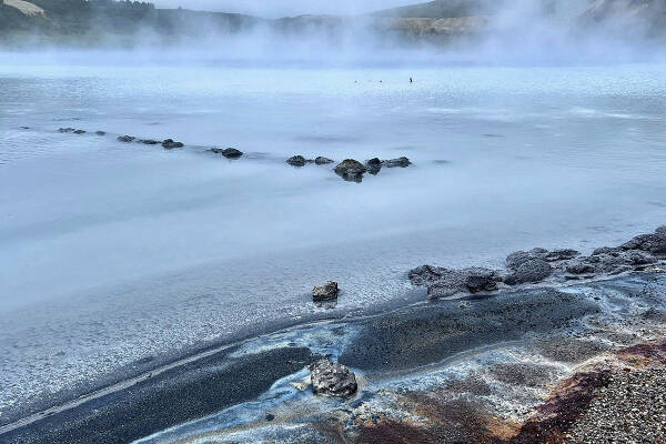
<svg viewBox="0 0 666 444">
<path fill-rule="evenodd" d="M 428 299 L 451 297 L 461 293 L 492 292 L 497 290 L 500 273 L 482 268 L 448 270 L 422 265 L 410 271 L 414 285 L 427 285 Z"/>
</svg>

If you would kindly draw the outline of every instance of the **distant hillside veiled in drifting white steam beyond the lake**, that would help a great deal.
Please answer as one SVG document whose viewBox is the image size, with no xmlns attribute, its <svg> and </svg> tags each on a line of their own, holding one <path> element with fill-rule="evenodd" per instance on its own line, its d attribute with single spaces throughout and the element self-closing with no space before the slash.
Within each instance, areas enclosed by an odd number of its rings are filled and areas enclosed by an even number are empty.
<svg viewBox="0 0 666 444">
<path fill-rule="evenodd" d="M 239 34 L 258 27 L 262 32 L 295 37 L 295 41 L 316 36 L 335 44 L 362 31 L 356 36 L 372 32 L 383 39 L 373 41 L 389 46 L 396 41 L 446 46 L 453 39 L 487 38 L 498 22 L 501 32 L 519 36 L 526 29 L 533 30 L 534 21 L 543 18 L 553 19 L 549 26 L 563 31 L 599 28 L 619 38 L 648 37 L 658 42 L 666 38 L 666 0 L 579 0 L 575 10 L 574 0 L 435 0 L 361 17 L 300 16 L 279 20 L 158 9 L 139 1 L 0 1 L 0 43 L 12 47 L 44 42 L 78 47 L 161 44 Z M 525 6 L 531 8 L 521 9 Z M 494 20 L 498 12 L 512 8 L 517 10 L 508 14 L 508 20 Z"/>
</svg>

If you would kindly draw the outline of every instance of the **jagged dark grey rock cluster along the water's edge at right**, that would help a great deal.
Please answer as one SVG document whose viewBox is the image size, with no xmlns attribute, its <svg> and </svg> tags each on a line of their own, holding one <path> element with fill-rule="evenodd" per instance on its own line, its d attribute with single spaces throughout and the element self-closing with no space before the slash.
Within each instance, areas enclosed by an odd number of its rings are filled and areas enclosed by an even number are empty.
<svg viewBox="0 0 666 444">
<path fill-rule="evenodd" d="M 576 250 L 534 249 L 509 254 L 505 270 L 422 265 L 410 271 L 408 278 L 414 285 L 427 286 L 428 299 L 441 299 L 491 293 L 502 286 L 539 283 L 547 279 L 567 281 L 643 271 L 665 258 L 666 225 L 619 246 L 596 249 L 588 256 L 582 256 Z"/>
</svg>

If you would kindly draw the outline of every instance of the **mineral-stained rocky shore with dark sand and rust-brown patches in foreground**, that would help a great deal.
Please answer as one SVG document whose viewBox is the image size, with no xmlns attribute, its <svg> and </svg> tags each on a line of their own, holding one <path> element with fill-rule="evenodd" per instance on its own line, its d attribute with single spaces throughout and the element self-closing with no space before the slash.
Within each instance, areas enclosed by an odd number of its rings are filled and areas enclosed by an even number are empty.
<svg viewBox="0 0 666 444">
<path fill-rule="evenodd" d="M 0 443 L 586 443 L 604 421 L 617 440 L 647 433 L 632 393 L 656 407 L 665 395 L 664 240 L 659 228 L 586 256 L 516 252 L 506 270 L 422 266 L 414 285 L 445 295 L 249 340 L 6 426 Z M 344 282 L 312 297 L 344 297 Z M 605 411 L 629 412 L 626 427 Z"/>
</svg>

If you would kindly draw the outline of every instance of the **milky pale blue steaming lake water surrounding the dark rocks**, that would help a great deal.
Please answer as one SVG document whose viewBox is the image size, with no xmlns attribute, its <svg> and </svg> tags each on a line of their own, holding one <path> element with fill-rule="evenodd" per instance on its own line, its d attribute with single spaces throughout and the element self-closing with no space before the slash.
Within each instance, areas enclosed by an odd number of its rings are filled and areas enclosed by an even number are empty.
<svg viewBox="0 0 666 444">
<path fill-rule="evenodd" d="M 12 59 L 0 56 L 0 424 L 138 360 L 422 300 L 406 271 L 423 263 L 498 266 L 666 222 L 665 65 Z M 293 154 L 414 165 L 353 183 Z M 343 290 L 333 310 L 310 297 L 326 280 Z"/>
</svg>

